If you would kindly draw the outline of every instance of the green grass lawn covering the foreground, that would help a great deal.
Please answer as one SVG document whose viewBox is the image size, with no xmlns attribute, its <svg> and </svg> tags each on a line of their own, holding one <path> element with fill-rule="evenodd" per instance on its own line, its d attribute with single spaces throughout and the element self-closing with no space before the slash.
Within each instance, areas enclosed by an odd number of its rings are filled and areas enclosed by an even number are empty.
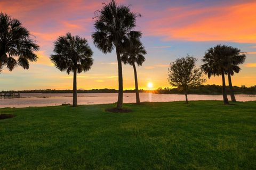
<svg viewBox="0 0 256 170">
<path fill-rule="evenodd" d="M 255 169 L 256 101 L 3 108 L 0 169 Z"/>
</svg>

